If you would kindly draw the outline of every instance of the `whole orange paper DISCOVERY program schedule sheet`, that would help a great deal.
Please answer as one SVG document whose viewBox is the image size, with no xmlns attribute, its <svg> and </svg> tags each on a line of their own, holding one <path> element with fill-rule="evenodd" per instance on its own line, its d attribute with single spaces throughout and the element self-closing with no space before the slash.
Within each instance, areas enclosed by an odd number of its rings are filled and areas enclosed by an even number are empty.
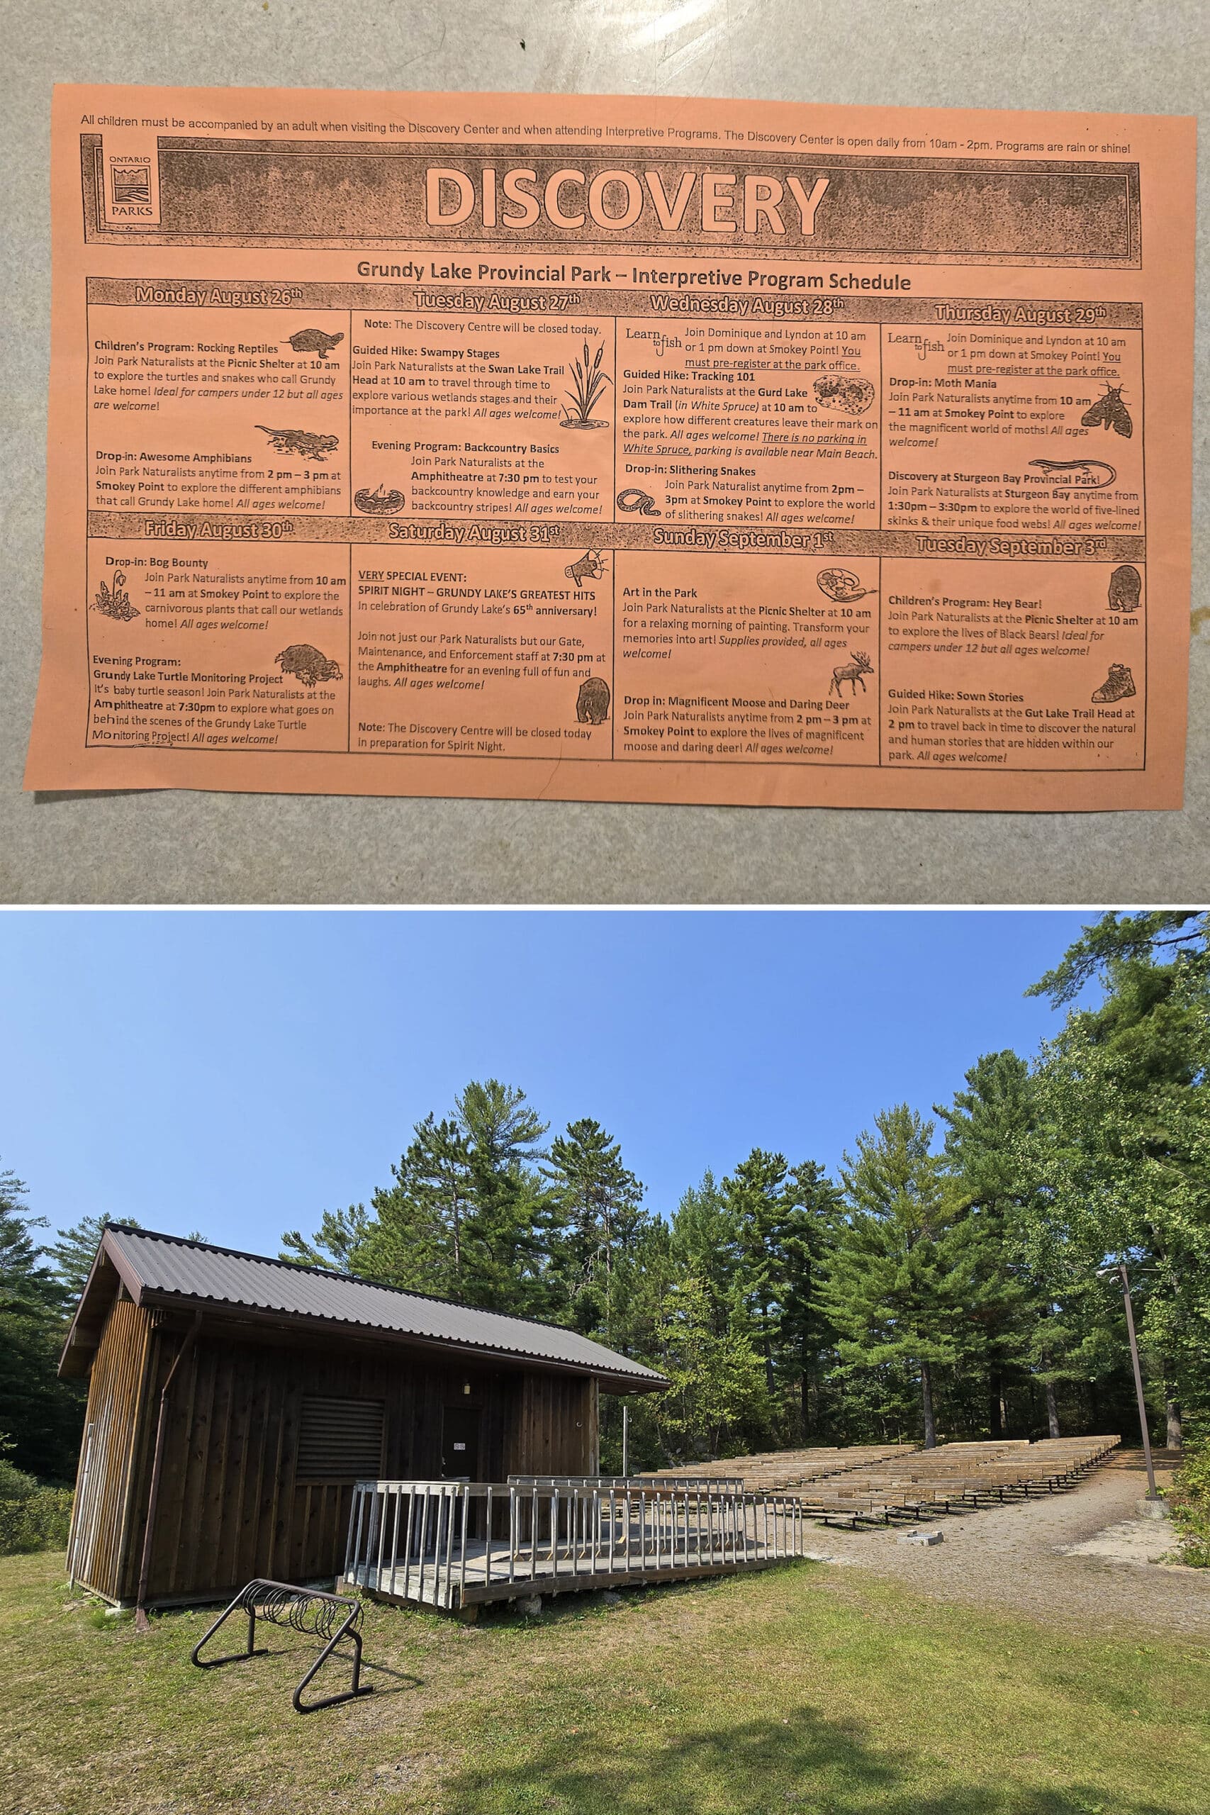
<svg viewBox="0 0 1210 1815">
<path fill-rule="evenodd" d="M 31 788 L 1174 808 L 1194 127 L 60 87 Z"/>
</svg>

